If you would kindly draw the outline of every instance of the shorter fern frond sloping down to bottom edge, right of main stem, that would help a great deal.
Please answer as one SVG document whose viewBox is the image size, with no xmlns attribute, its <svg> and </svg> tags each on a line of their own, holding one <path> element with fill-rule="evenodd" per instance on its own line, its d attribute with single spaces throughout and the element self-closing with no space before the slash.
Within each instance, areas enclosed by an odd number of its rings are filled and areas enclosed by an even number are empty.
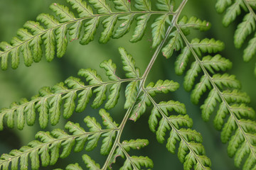
<svg viewBox="0 0 256 170">
<path fill-rule="evenodd" d="M 169 152 L 174 153 L 176 141 L 180 141 L 178 159 L 183 163 L 183 168 L 192 169 L 195 166 L 197 169 L 210 169 L 210 159 L 206 157 L 203 145 L 201 145 L 202 137 L 196 130 L 190 129 L 193 121 L 186 115 L 185 106 L 178 101 L 157 104 L 149 94 L 147 95 L 154 105 L 149 117 L 149 128 L 156 132 L 156 139 L 163 143 L 166 131 L 171 130 L 166 147 Z M 169 115 L 173 111 L 176 111 L 178 115 Z M 157 128 L 157 126 L 159 127 Z M 187 129 L 184 127 L 187 127 Z"/>
</svg>

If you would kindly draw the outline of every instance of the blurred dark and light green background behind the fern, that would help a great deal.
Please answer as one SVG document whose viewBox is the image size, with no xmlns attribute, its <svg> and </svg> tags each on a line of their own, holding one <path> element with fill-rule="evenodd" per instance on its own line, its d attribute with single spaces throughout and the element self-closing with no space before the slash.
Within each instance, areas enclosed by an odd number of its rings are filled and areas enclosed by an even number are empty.
<svg viewBox="0 0 256 170">
<path fill-rule="evenodd" d="M 35 21 L 39 13 L 51 13 L 48 6 L 53 2 L 65 4 L 64 0 L 0 0 L 0 41 L 10 42 L 11 38 L 16 35 L 18 28 L 21 28 L 23 23 L 28 20 Z M 215 1 L 213 0 L 188 1 L 183 14 L 197 16 L 212 23 L 212 28 L 206 33 L 193 31 L 189 38 L 215 38 L 225 42 L 225 50 L 221 54 L 233 62 L 233 69 L 228 72 L 235 74 L 237 79 L 241 81 L 242 91 L 250 95 L 252 101 L 251 106 L 255 109 L 256 80 L 253 76 L 255 59 L 249 63 L 242 61 L 242 50 L 235 49 L 233 45 L 233 33 L 237 23 L 224 28 L 221 24 L 222 16 L 216 13 L 214 5 Z M 99 44 L 97 40 L 100 30 L 102 30 L 102 26 L 99 26 L 95 40 L 89 45 L 80 45 L 78 40 L 68 43 L 68 50 L 61 59 L 55 58 L 53 62 L 48 63 L 43 58 L 43 61 L 33 63 L 31 67 L 23 66 L 23 61 L 21 60 L 18 69 L 0 71 L 0 108 L 9 107 L 12 102 L 18 101 L 20 98 L 31 98 L 31 96 L 38 93 L 38 89 L 42 86 L 53 86 L 70 76 L 76 77 L 78 70 L 82 68 L 97 69 L 98 73 L 104 77 L 104 72 L 99 67 L 100 62 L 103 60 L 112 59 L 117 64 L 117 74 L 120 77 L 124 76 L 117 50 L 118 47 L 124 47 L 132 54 L 136 60 L 137 67 L 140 68 L 142 73 L 144 72 L 146 65 L 154 54 L 154 49 L 151 48 L 151 29 L 149 26 L 143 40 L 134 44 L 129 42 L 131 33 L 119 40 L 112 39 L 105 45 Z M 212 169 L 237 169 L 233 165 L 234 160 L 228 157 L 227 145 L 223 145 L 220 142 L 220 132 L 213 128 L 213 117 L 210 122 L 203 122 L 200 107 L 193 105 L 190 101 L 190 93 L 183 90 L 183 77 L 178 77 L 174 73 L 175 60 L 176 54 L 170 60 L 166 60 L 165 57 L 159 55 L 147 81 L 156 81 L 158 79 L 178 81 L 181 84 L 181 88 L 174 93 L 162 96 L 162 98 L 164 100 L 177 100 L 186 104 L 188 115 L 193 118 L 193 129 L 196 129 L 203 135 L 203 145 L 206 147 L 206 154 L 212 161 Z M 162 98 L 161 100 L 163 100 Z M 125 113 L 124 109 L 122 109 L 123 103 L 124 95 L 120 96 L 118 107 L 109 111 L 117 123 L 121 122 L 122 116 Z M 133 154 L 142 154 L 153 159 L 154 169 L 183 169 L 183 165 L 178 161 L 176 154 L 167 152 L 165 145 L 159 144 L 156 141 L 155 134 L 149 130 L 147 124 L 149 111 L 148 109 L 137 123 L 133 123 L 132 121 L 127 123 L 122 140 L 147 138 L 149 140 L 149 146 L 142 149 L 140 153 L 132 152 Z M 86 115 L 97 116 L 97 110 L 87 107 L 82 113 L 74 113 L 70 120 L 79 122 L 81 126 L 85 126 L 82 120 Z M 46 130 L 63 128 L 66 121 L 62 119 L 58 126 L 49 126 Z M 16 130 L 16 128 L 5 128 L 4 131 L 0 132 L 0 154 L 27 145 L 28 142 L 34 140 L 34 135 L 39 130 L 41 128 L 38 125 L 33 127 L 26 126 L 22 131 Z M 106 157 L 100 156 L 99 151 L 100 148 L 97 147 L 94 152 L 87 154 L 102 165 Z M 59 166 L 63 168 L 73 162 L 80 162 L 80 165 L 85 169 L 85 165 L 82 163 L 80 157 L 82 154 L 85 154 L 85 152 L 73 154 L 72 157 L 64 160 L 59 159 L 56 166 L 47 167 L 46 169 L 53 169 Z M 113 166 L 113 169 L 118 169 L 118 164 L 122 164 L 122 159 L 117 159 L 117 165 Z"/>
</svg>

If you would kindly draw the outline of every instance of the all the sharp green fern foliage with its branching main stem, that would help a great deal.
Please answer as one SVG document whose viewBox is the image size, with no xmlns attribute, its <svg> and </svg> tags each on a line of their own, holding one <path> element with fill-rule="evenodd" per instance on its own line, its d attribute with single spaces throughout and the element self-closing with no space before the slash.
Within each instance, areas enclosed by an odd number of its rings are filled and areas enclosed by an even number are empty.
<svg viewBox="0 0 256 170">
<path fill-rule="evenodd" d="M 112 166 L 151 169 L 154 167 L 152 159 L 131 151 L 146 147 L 150 141 L 141 137 L 123 140 L 129 120 L 136 124 L 146 116 L 149 129 L 156 134 L 159 143 L 164 143 L 168 137 L 166 149 L 173 154 L 177 152 L 183 169 L 210 169 L 211 161 L 202 144 L 203 137 L 193 130 L 193 120 L 187 114 L 185 104 L 173 96 L 167 100 L 162 97 L 177 91 L 178 82 L 157 79 L 147 83 L 160 52 L 166 59 L 177 55 L 174 70 L 177 75 L 184 74 L 183 88 L 191 91 L 194 104 L 201 105 L 203 120 L 210 120 L 215 113 L 213 124 L 221 130 L 221 141 L 228 143 L 228 156 L 234 157 L 235 166 L 255 169 L 256 123 L 255 111 L 249 106 L 250 96 L 241 91 L 235 75 L 227 72 L 233 63 L 219 53 L 224 50 L 224 43 L 214 38 L 194 38 L 190 34 L 195 30 L 209 30 L 211 25 L 196 16 L 183 15 L 186 0 L 67 0 L 67 3 L 68 6 L 53 3 L 50 9 L 55 16 L 41 13 L 36 21 L 27 21 L 11 42 L 1 42 L 1 68 L 7 69 L 11 64 L 16 69 L 21 54 L 26 66 L 41 62 L 43 56 L 51 62 L 55 56 L 65 55 L 69 41 L 80 40 L 81 45 L 87 45 L 94 40 L 97 31 L 101 31 L 100 43 L 107 43 L 110 38 L 122 38 L 129 30 L 132 30 L 130 42 L 138 42 L 149 24 L 154 55 L 141 74 L 142 69 L 137 67 L 132 55 L 119 47 L 122 69 L 113 60 L 105 60 L 100 63 L 105 77 L 95 69 L 80 69 L 80 78 L 69 77 L 53 87 L 45 86 L 31 100 L 22 98 L 9 108 L 2 108 L 0 130 L 14 127 L 23 130 L 26 125 L 36 126 L 36 123 L 45 129 L 49 123 L 53 126 L 60 124 L 62 117 L 68 122 L 65 123 L 66 131 L 60 128 L 40 130 L 36 132 L 36 140 L 28 145 L 1 154 L 0 169 L 28 169 L 28 166 L 39 169 L 55 165 L 59 158 L 73 154 L 72 151 L 85 152 L 82 160 L 87 169 L 112 169 Z M 250 11 L 235 32 L 236 47 L 241 47 L 247 35 L 255 30 L 254 3 L 217 1 L 218 12 L 228 7 L 223 19 L 225 26 L 235 20 L 240 8 Z M 134 28 L 133 22 L 136 24 Z M 251 57 L 255 53 L 253 40 L 245 49 L 246 56 L 248 52 Z M 120 96 L 125 96 L 125 101 L 122 102 Z M 85 125 L 69 120 L 75 112 L 85 111 L 89 103 L 91 108 L 97 109 L 102 120 L 97 115 L 85 115 Z M 107 112 L 114 111 L 118 104 L 123 107 L 119 111 L 123 115 L 120 123 Z M 88 155 L 97 148 L 105 156 L 103 164 L 96 163 L 97 159 Z M 120 158 L 124 160 L 119 161 Z M 85 169 L 78 162 L 65 166 L 65 169 Z"/>
</svg>

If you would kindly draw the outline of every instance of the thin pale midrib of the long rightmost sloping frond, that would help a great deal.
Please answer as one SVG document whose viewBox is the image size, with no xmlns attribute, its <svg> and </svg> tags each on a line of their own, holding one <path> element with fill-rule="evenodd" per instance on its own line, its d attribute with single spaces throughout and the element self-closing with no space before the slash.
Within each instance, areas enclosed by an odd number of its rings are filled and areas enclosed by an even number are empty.
<svg viewBox="0 0 256 170">
<path fill-rule="evenodd" d="M 198 64 L 200 65 L 201 69 L 203 70 L 203 74 L 206 75 L 206 77 L 208 78 L 208 80 L 210 81 L 210 84 L 213 86 L 213 89 L 215 89 L 215 91 L 218 92 L 218 96 L 220 96 L 221 100 L 223 101 L 223 103 L 225 103 L 226 108 L 228 108 L 228 111 L 230 113 L 230 116 L 232 116 L 235 120 L 236 125 L 238 126 L 238 129 L 240 130 L 240 132 L 242 132 L 242 135 L 244 137 L 244 139 L 247 142 L 247 145 L 249 145 L 250 147 L 250 152 L 254 155 L 255 159 L 256 159 L 256 153 L 253 152 L 252 149 L 252 144 L 250 143 L 250 140 L 247 138 L 246 132 L 245 130 L 241 127 L 240 125 L 240 120 L 238 120 L 238 118 L 235 116 L 235 113 L 233 113 L 233 111 L 231 110 L 230 105 L 228 104 L 228 101 L 226 101 L 226 99 L 223 96 L 223 93 L 220 91 L 220 89 L 218 88 L 218 86 L 214 83 L 212 77 L 210 77 L 210 74 L 208 73 L 208 71 L 206 70 L 206 68 L 203 66 L 201 60 L 199 59 L 198 55 L 196 55 L 195 50 L 193 50 L 193 47 L 191 47 L 191 44 L 188 42 L 186 36 L 183 34 L 181 28 L 179 28 L 178 24 L 176 24 L 176 28 L 178 29 L 179 33 L 181 34 L 183 40 L 185 41 L 186 45 L 189 47 L 189 49 L 191 50 L 196 62 L 198 62 Z"/>
</svg>

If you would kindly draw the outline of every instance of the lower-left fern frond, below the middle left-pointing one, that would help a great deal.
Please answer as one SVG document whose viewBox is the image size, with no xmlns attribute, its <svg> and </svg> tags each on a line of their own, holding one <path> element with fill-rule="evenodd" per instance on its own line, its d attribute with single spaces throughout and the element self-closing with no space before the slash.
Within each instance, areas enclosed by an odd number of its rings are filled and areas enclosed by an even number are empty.
<svg viewBox="0 0 256 170">
<path fill-rule="evenodd" d="M 58 157 L 65 158 L 68 157 L 71 150 L 74 148 L 75 152 L 80 152 L 82 149 L 91 150 L 97 146 L 97 142 L 100 136 L 105 137 L 105 133 L 111 131 L 115 132 L 117 127 L 112 127 L 112 125 L 117 125 L 112 122 L 110 115 L 104 111 L 100 113 L 102 115 L 103 124 L 106 125 L 106 129 L 102 130 L 99 123 L 96 122 L 95 118 L 87 116 L 85 118 L 85 123 L 89 128 L 89 132 L 86 132 L 78 123 L 68 122 L 65 125 L 72 135 L 64 132 L 60 129 L 55 129 L 52 132 L 38 132 L 36 138 L 28 144 L 27 147 L 21 147 L 19 150 L 13 150 L 10 154 L 3 154 L 1 156 L 0 168 L 8 166 L 15 167 L 17 169 L 18 159 L 20 159 L 21 167 L 28 166 L 28 157 L 31 160 L 31 168 L 38 169 L 41 157 L 42 166 L 48 166 L 55 164 Z M 110 120 L 108 123 L 105 120 Z M 106 139 L 104 138 L 102 148 L 105 147 Z M 85 147 L 86 145 L 86 147 Z M 61 154 L 60 154 L 60 147 Z M 111 147 L 111 146 L 110 146 Z M 8 159 L 7 159 L 8 158 Z"/>
</svg>

